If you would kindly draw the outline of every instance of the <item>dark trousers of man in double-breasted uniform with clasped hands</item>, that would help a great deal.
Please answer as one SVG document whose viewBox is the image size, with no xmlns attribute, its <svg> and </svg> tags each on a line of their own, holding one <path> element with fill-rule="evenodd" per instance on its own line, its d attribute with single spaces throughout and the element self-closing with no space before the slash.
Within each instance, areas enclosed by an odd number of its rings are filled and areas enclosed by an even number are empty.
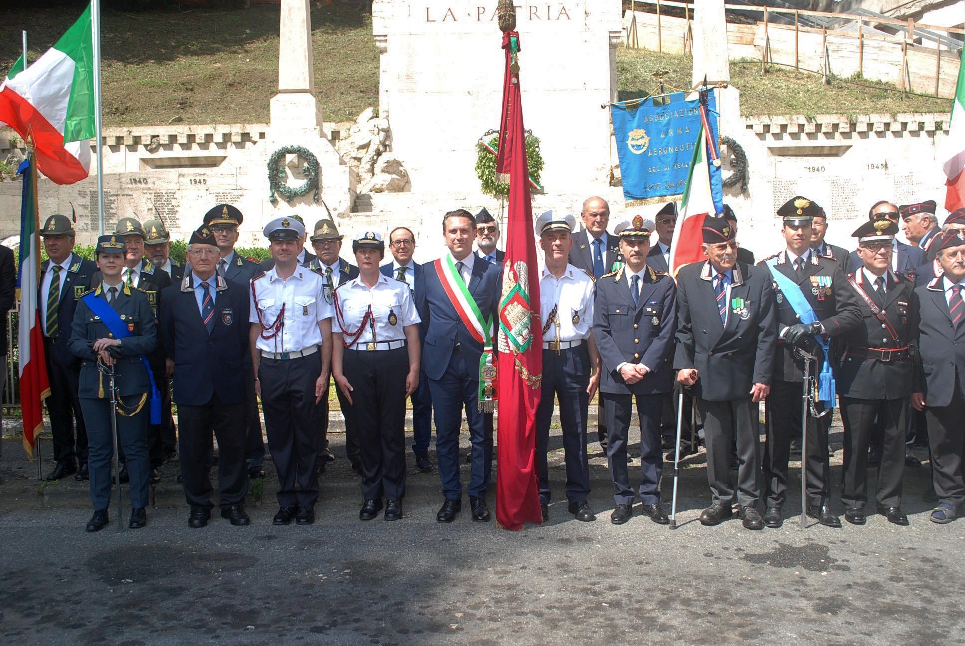
<svg viewBox="0 0 965 646">
<path fill-rule="evenodd" d="M 637 398 L 637 417 L 640 419 L 640 501 L 645 505 L 660 502 L 660 476 L 663 474 L 663 454 L 660 444 L 660 416 L 663 394 L 623 395 L 600 393 L 606 413 L 606 457 L 613 479 L 613 500 L 616 504 L 632 505 L 636 498 L 630 488 L 629 469 L 626 467 L 626 443 L 633 398 Z"/>
</svg>

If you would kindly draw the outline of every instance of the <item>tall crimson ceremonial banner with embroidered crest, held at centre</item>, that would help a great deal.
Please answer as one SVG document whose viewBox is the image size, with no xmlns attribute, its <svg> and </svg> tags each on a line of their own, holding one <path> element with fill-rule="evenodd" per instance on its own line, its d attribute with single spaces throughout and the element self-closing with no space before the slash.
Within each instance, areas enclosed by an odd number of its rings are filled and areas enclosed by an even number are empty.
<svg viewBox="0 0 965 646">
<path fill-rule="evenodd" d="M 503 16 L 500 18 L 502 27 Z M 526 522 L 542 522 L 536 460 L 542 327 L 533 315 L 539 312 L 539 273 L 519 93 L 519 34 L 504 30 L 503 49 L 506 75 L 496 173 L 509 177 L 510 200 L 499 308 L 496 521 L 505 529 L 515 530 L 522 529 Z"/>
</svg>

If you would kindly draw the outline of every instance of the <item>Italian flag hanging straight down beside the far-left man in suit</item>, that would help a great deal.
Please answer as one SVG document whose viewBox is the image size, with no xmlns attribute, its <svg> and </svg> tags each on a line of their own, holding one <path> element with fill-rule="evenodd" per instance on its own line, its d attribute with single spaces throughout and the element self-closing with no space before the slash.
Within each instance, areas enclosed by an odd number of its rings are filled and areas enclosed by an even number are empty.
<svg viewBox="0 0 965 646">
<path fill-rule="evenodd" d="M 41 312 L 38 308 L 41 284 L 41 228 L 37 211 L 37 164 L 33 154 L 17 173 L 23 176 L 23 204 L 20 211 L 20 292 L 19 366 L 20 408 L 23 412 L 23 448 L 34 459 L 37 435 L 43 430 L 43 400 L 50 394 L 47 363 L 43 356 Z"/>
</svg>

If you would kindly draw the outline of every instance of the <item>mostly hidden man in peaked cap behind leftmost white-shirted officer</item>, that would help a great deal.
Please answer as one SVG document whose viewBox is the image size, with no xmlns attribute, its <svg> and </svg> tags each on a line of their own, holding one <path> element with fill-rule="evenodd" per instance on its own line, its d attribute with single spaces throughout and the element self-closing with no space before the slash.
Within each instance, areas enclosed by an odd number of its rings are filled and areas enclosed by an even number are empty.
<svg viewBox="0 0 965 646">
<path fill-rule="evenodd" d="M 261 273 L 258 263 L 254 263 L 234 252 L 238 241 L 238 227 L 244 215 L 230 204 L 219 204 L 205 213 L 205 224 L 211 230 L 214 241 L 221 254 L 218 260 L 218 274 L 226 280 L 250 289 L 251 279 Z M 264 477 L 264 439 L 262 438 L 262 415 L 255 396 L 255 376 L 251 368 L 251 355 L 244 357 L 245 373 L 245 461 L 248 463 L 248 477 Z"/>
</svg>

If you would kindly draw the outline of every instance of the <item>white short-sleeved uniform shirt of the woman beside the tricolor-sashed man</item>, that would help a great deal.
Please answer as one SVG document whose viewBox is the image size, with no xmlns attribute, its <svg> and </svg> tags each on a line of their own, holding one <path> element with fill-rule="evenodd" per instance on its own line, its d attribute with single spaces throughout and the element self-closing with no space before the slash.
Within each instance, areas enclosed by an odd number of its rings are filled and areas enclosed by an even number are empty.
<svg viewBox="0 0 965 646">
<path fill-rule="evenodd" d="M 358 331 L 366 312 L 372 306 L 374 321 L 372 324 L 365 324 L 361 336 L 350 346 L 352 348 L 372 342 L 402 341 L 405 339 L 406 325 L 422 322 L 408 286 L 381 272 L 372 289 L 366 287 L 359 276 L 343 283 L 335 291 L 335 297 L 339 300 L 342 317 L 336 316 L 332 319 L 332 331 L 341 334 L 347 329 L 348 336 L 353 336 Z M 392 319 L 395 319 L 396 324 L 392 324 Z M 375 328 L 374 338 L 372 326 Z"/>
</svg>

